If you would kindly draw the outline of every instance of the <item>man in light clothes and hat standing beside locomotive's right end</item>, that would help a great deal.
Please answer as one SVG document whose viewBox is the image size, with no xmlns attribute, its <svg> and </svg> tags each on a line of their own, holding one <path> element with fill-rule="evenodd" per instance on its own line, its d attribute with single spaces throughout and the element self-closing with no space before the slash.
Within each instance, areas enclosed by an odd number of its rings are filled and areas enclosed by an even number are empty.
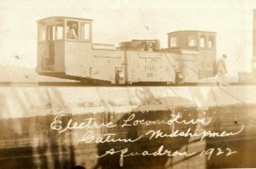
<svg viewBox="0 0 256 169">
<path fill-rule="evenodd" d="M 226 73 L 228 73 L 227 71 L 227 67 L 226 67 L 226 62 L 225 59 L 227 58 L 226 54 L 223 54 L 222 58 L 218 59 L 218 80 L 217 80 L 217 84 L 223 84 L 226 85 Z"/>
</svg>

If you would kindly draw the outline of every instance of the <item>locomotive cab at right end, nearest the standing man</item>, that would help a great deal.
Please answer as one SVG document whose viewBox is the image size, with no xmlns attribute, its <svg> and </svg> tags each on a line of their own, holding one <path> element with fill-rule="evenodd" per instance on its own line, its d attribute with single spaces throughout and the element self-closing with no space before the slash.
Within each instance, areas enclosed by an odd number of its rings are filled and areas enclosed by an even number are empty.
<svg viewBox="0 0 256 169">
<path fill-rule="evenodd" d="M 177 54 L 183 82 L 216 75 L 216 33 L 174 31 L 168 33 L 168 51 Z"/>
</svg>

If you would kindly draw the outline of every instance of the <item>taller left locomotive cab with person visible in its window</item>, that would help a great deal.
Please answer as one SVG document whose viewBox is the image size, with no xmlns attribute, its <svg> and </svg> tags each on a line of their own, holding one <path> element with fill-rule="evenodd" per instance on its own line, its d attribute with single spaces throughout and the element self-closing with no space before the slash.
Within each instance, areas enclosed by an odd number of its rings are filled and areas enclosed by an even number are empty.
<svg viewBox="0 0 256 169">
<path fill-rule="evenodd" d="M 38 74 L 69 78 L 81 55 L 92 48 L 92 20 L 50 17 L 38 20 Z M 81 50 L 83 48 L 84 50 Z M 83 53 L 83 54 L 82 54 Z"/>
</svg>

